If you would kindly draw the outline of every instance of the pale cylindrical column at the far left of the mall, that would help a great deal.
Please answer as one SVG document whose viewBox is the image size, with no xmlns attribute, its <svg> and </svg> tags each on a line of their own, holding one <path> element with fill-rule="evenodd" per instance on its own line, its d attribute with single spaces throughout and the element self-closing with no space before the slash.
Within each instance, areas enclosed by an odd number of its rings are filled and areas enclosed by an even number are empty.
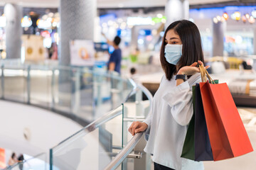
<svg viewBox="0 0 256 170">
<path fill-rule="evenodd" d="M 16 4 L 6 4 L 4 15 L 6 16 L 6 58 L 19 59 L 21 58 L 22 7 Z"/>
</svg>

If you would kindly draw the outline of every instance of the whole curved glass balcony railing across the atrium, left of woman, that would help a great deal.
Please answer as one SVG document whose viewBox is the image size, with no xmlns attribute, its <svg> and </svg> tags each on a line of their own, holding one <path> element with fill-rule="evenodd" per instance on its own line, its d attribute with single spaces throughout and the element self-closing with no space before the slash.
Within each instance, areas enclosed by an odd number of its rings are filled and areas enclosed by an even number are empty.
<svg viewBox="0 0 256 170">
<path fill-rule="evenodd" d="M 3 67 L 3 97 L 91 122 L 125 101 L 133 86 L 112 72 L 90 67 Z"/>
</svg>

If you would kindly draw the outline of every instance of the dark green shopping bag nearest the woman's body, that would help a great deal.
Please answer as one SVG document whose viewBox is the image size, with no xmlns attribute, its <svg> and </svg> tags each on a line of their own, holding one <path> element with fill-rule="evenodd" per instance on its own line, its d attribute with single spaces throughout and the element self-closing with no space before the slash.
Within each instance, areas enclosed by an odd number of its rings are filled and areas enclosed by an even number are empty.
<svg viewBox="0 0 256 170">
<path fill-rule="evenodd" d="M 186 137 L 183 143 L 183 149 L 181 153 L 181 157 L 186 159 L 195 160 L 195 140 L 194 140 L 194 132 L 195 132 L 195 102 L 196 102 L 196 86 L 192 86 L 192 94 L 193 94 L 193 115 L 191 121 L 188 125 L 188 130 L 186 132 Z"/>
</svg>

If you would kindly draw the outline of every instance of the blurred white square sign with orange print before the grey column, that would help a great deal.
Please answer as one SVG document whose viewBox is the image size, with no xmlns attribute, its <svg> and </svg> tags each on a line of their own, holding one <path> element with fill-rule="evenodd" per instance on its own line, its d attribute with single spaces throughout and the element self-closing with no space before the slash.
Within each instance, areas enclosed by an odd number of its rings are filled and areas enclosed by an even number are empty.
<svg viewBox="0 0 256 170">
<path fill-rule="evenodd" d="M 76 66 L 92 66 L 95 62 L 95 49 L 92 40 L 70 41 L 70 63 Z"/>
</svg>

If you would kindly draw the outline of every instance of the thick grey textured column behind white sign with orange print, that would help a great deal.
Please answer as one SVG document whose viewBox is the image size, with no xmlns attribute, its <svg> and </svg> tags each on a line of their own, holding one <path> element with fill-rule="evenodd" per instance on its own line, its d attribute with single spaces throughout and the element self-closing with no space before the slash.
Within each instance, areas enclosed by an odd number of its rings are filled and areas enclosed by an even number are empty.
<svg viewBox="0 0 256 170">
<path fill-rule="evenodd" d="M 60 64 L 70 64 L 70 40 L 93 40 L 97 2 L 60 0 Z"/>
</svg>

